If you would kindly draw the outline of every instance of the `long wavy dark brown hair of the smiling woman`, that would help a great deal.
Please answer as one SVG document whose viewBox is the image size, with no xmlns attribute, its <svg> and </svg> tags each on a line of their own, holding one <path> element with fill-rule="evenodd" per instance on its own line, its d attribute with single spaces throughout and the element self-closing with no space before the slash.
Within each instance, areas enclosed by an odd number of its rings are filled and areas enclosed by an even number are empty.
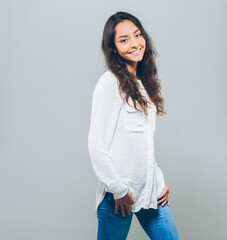
<svg viewBox="0 0 227 240">
<path fill-rule="evenodd" d="M 137 107 L 138 103 L 141 106 L 142 111 L 147 114 L 148 101 L 141 95 L 136 77 L 127 70 L 124 58 L 116 52 L 116 46 L 114 43 L 115 27 L 118 23 L 124 20 L 130 20 L 134 23 L 139 28 L 146 41 L 146 49 L 143 59 L 137 64 L 137 77 L 141 79 L 148 96 L 155 104 L 157 115 L 163 115 L 166 112 L 163 110 L 164 99 L 161 96 L 161 85 L 160 80 L 158 79 L 155 63 L 155 57 L 157 57 L 158 54 L 153 47 L 151 38 L 144 30 L 140 21 L 129 13 L 115 13 L 107 20 L 104 26 L 102 51 L 105 56 L 107 68 L 117 77 L 120 94 L 122 95 L 122 93 L 124 93 L 124 99 L 126 102 L 128 103 L 128 99 L 131 97 L 134 107 L 140 111 Z"/>
</svg>

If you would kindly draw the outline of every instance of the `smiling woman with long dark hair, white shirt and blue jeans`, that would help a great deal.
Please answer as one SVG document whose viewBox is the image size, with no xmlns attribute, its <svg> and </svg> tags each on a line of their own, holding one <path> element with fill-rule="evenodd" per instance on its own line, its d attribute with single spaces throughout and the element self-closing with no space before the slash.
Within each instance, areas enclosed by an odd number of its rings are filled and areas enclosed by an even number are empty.
<svg viewBox="0 0 227 240">
<path fill-rule="evenodd" d="M 97 238 L 126 239 L 134 213 L 150 239 L 179 239 L 154 158 L 156 115 L 165 112 L 152 41 L 136 17 L 117 12 L 105 24 L 102 50 L 108 70 L 93 92 L 88 135 Z"/>
</svg>

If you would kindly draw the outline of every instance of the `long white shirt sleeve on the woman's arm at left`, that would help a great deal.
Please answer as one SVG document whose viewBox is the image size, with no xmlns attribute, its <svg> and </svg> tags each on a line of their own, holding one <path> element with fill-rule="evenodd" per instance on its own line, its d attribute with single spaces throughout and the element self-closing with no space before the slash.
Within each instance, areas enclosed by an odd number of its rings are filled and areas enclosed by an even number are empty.
<svg viewBox="0 0 227 240">
<path fill-rule="evenodd" d="M 115 199 L 123 197 L 128 191 L 127 184 L 116 173 L 110 157 L 121 104 L 117 81 L 107 72 L 99 79 L 92 96 L 88 150 L 96 176 Z"/>
</svg>

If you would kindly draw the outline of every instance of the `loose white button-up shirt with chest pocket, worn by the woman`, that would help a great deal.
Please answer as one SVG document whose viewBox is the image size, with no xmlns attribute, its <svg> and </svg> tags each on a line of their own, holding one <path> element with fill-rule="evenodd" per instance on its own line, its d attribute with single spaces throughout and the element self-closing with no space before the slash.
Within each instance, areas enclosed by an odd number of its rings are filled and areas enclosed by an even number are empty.
<svg viewBox="0 0 227 240">
<path fill-rule="evenodd" d="M 141 80 L 140 91 L 148 95 Z M 154 157 L 156 106 L 148 115 L 129 106 L 118 91 L 118 80 L 107 70 L 98 80 L 92 97 L 88 150 L 98 177 L 96 210 L 106 191 L 114 199 L 129 190 L 135 201 L 132 212 L 157 209 L 157 197 L 164 189 L 164 177 Z M 137 104 L 138 105 L 138 104 Z"/>
</svg>

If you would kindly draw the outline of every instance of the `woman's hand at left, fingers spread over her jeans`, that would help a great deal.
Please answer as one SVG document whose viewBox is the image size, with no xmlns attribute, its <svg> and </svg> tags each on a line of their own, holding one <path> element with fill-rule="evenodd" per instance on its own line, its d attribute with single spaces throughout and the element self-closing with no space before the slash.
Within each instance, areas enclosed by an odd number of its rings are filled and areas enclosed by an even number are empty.
<svg viewBox="0 0 227 240">
<path fill-rule="evenodd" d="M 127 194 L 119 199 L 115 199 L 115 213 L 118 213 L 119 206 L 121 206 L 122 216 L 125 217 L 125 208 L 128 215 L 131 215 L 130 204 L 134 204 L 131 193 L 128 191 Z"/>
</svg>

